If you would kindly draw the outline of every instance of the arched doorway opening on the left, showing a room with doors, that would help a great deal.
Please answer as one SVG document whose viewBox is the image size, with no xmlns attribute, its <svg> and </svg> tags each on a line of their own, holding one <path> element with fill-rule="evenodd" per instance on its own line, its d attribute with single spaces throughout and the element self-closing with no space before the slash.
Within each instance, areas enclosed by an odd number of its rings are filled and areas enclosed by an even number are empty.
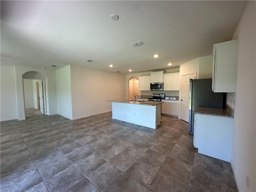
<svg viewBox="0 0 256 192">
<path fill-rule="evenodd" d="M 25 118 L 46 114 L 45 78 L 29 71 L 22 75 Z"/>
</svg>

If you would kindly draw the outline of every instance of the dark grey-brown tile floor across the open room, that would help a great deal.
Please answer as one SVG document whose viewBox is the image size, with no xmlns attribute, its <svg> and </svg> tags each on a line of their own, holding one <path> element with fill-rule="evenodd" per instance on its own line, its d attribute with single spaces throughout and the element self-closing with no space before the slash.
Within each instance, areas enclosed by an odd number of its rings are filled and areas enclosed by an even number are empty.
<svg viewBox="0 0 256 192">
<path fill-rule="evenodd" d="M 230 163 L 196 153 L 188 123 L 111 113 L 1 122 L 1 192 L 236 192 Z"/>
</svg>

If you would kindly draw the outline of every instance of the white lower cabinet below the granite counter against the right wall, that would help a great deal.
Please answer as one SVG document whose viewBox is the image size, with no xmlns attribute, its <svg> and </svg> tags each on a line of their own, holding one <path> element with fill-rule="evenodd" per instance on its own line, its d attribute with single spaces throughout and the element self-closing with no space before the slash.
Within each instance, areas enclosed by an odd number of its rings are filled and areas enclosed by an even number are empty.
<svg viewBox="0 0 256 192">
<path fill-rule="evenodd" d="M 198 153 L 230 162 L 234 118 L 195 114 L 194 146 Z"/>
</svg>

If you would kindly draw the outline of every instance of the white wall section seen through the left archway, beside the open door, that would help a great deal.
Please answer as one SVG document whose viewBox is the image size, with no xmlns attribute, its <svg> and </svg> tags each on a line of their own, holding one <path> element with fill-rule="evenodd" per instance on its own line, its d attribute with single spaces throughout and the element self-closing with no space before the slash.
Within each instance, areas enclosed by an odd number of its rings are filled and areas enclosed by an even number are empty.
<svg viewBox="0 0 256 192">
<path fill-rule="evenodd" d="M 34 108 L 32 79 L 23 79 L 25 108 Z"/>
</svg>

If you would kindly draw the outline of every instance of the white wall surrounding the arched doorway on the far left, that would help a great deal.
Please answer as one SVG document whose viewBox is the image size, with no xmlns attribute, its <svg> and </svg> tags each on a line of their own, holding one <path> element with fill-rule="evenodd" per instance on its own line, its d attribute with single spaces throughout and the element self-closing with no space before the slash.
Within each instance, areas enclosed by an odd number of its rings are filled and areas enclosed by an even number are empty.
<svg viewBox="0 0 256 192">
<path fill-rule="evenodd" d="M 57 97 L 56 97 L 56 78 L 55 70 L 41 69 L 35 67 L 25 67 L 25 66 L 14 66 L 14 76 L 16 83 L 16 99 L 18 108 L 18 120 L 25 119 L 24 111 L 24 95 L 23 95 L 23 85 L 22 85 L 22 75 L 26 72 L 38 72 L 39 76 L 26 76 L 27 78 L 45 78 L 45 91 L 46 97 L 46 114 L 54 115 L 57 114 Z"/>
</svg>

